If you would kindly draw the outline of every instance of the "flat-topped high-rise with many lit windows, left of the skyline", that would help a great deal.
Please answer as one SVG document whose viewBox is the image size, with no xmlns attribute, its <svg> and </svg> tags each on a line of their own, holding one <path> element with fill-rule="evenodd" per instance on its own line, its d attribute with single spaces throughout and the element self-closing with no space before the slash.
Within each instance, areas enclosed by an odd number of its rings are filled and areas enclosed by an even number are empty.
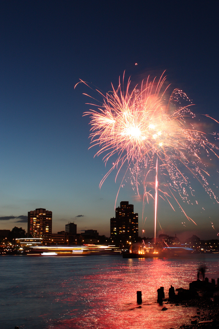
<svg viewBox="0 0 219 329">
<path fill-rule="evenodd" d="M 52 241 L 52 211 L 44 208 L 28 212 L 28 236 L 42 238 L 44 242 Z"/>
</svg>

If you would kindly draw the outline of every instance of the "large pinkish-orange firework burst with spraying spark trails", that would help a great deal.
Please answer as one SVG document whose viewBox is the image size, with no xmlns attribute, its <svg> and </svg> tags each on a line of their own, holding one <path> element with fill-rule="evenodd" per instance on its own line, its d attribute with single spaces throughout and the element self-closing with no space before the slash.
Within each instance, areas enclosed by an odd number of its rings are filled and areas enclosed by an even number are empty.
<svg viewBox="0 0 219 329">
<path fill-rule="evenodd" d="M 148 77 L 145 85 L 142 81 L 140 89 L 138 86 L 131 89 L 130 79 L 124 87 L 123 76 L 123 83 L 119 82 L 118 89 L 112 86 L 112 92 L 106 95 L 96 89 L 103 97 L 103 104 L 84 115 L 91 118 L 91 144 L 99 146 L 96 155 L 102 155 L 105 164 L 111 157 L 116 157 L 100 187 L 112 170 L 117 170 L 118 177 L 121 168 L 126 166 L 126 173 L 129 169 L 131 183 L 137 187 L 138 194 L 139 186 L 143 185 L 143 205 L 148 197 L 152 197 L 157 208 L 159 191 L 173 209 L 171 199 L 186 215 L 174 194 L 178 192 L 189 203 L 189 195 L 194 195 L 191 177 L 195 177 L 209 196 L 218 202 L 208 184 L 206 164 L 207 158 L 218 158 L 218 147 L 214 141 L 208 140 L 209 135 L 215 140 L 217 136 L 202 131 L 204 128 L 200 128 L 200 124 L 196 128 L 195 114 L 188 108 L 191 104 L 182 90 L 174 89 L 166 101 L 164 81 L 163 75 L 158 83 L 155 79 L 150 82 Z M 186 106 L 180 104 L 182 100 Z M 151 192 L 154 189 L 152 182 L 155 182 L 155 197 Z"/>
</svg>

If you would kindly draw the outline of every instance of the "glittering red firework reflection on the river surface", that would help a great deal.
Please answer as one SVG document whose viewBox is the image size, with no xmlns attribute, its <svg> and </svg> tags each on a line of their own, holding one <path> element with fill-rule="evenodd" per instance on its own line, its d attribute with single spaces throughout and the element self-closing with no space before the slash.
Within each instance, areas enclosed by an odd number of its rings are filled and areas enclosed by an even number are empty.
<svg viewBox="0 0 219 329">
<path fill-rule="evenodd" d="M 94 265 L 95 268 L 95 265 Z M 50 329 L 164 329 L 182 324 L 182 319 L 195 315 L 195 310 L 164 304 L 161 311 L 157 289 L 164 286 L 168 297 L 170 285 L 188 288 L 191 270 L 183 274 L 182 265 L 168 259 L 129 259 L 122 265 L 84 275 L 80 282 L 63 282 L 68 294 L 56 295 L 68 312 L 52 321 Z M 196 274 L 195 270 L 193 271 Z M 136 291 L 142 291 L 141 307 Z M 187 320 L 188 321 L 188 320 Z M 48 321 L 50 322 L 50 321 Z M 185 321 L 183 321 L 185 323 Z"/>
</svg>

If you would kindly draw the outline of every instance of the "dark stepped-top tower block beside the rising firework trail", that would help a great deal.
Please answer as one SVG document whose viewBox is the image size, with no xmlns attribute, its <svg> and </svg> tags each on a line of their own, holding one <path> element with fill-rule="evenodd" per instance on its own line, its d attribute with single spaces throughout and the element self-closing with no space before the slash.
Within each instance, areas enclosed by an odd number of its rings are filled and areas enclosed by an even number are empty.
<svg viewBox="0 0 219 329">
<path fill-rule="evenodd" d="M 115 218 L 110 219 L 110 238 L 135 242 L 138 240 L 138 214 L 134 213 L 134 206 L 128 201 L 121 201 L 116 208 Z"/>
</svg>

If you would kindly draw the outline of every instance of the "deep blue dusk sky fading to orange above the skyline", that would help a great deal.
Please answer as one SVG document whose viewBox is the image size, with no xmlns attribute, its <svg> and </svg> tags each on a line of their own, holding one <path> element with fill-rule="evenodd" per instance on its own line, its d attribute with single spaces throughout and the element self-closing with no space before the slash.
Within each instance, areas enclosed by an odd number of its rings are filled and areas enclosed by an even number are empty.
<svg viewBox="0 0 219 329">
<path fill-rule="evenodd" d="M 83 117 L 92 108 L 83 93 L 100 103 L 101 97 L 84 84 L 74 87 L 82 79 L 105 94 L 124 71 L 141 83 L 166 70 L 170 92 L 182 89 L 193 112 L 219 120 L 218 2 L 2 0 L 0 6 L 0 229 L 27 230 L 28 211 L 41 207 L 53 212 L 53 233 L 74 221 L 78 233 L 109 236 L 120 181 L 113 172 L 99 189 L 111 163 L 94 158 L 98 148 L 89 149 Z M 218 173 L 211 183 L 219 184 Z M 201 185 L 194 190 L 199 204 L 186 213 L 197 226 L 158 201 L 158 233 L 217 238 L 219 205 Z M 128 182 L 116 206 L 120 201 L 134 204 L 141 235 L 142 202 Z M 145 205 L 146 237 L 153 236 L 153 212 L 153 202 Z"/>
</svg>

